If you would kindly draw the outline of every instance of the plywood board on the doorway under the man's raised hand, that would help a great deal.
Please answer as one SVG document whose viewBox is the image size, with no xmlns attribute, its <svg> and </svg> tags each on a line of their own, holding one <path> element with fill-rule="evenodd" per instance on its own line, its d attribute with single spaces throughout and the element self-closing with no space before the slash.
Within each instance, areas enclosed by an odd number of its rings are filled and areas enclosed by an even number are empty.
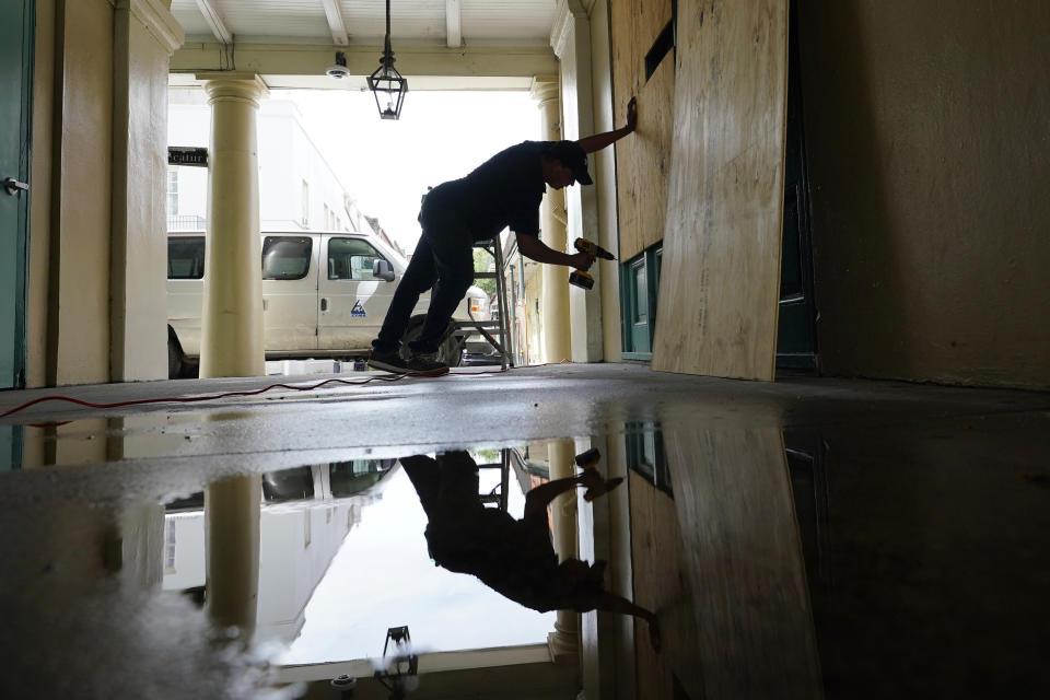
<svg viewBox="0 0 1050 700">
<path fill-rule="evenodd" d="M 612 0 L 614 118 L 623 124 L 627 103 L 638 97 L 638 130 L 616 144 L 620 259 L 629 259 L 664 235 L 664 202 L 670 172 L 674 116 L 674 52 L 645 79 L 645 54 L 670 20 L 670 2 Z"/>
</svg>

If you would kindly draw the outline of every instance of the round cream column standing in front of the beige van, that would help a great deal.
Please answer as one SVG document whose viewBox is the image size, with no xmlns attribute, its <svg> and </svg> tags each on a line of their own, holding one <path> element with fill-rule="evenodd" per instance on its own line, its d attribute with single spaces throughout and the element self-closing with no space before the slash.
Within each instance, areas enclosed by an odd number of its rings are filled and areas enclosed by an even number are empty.
<svg viewBox="0 0 1050 700">
<path fill-rule="evenodd" d="M 265 372 L 254 73 L 202 74 L 211 105 L 200 376 Z"/>
</svg>

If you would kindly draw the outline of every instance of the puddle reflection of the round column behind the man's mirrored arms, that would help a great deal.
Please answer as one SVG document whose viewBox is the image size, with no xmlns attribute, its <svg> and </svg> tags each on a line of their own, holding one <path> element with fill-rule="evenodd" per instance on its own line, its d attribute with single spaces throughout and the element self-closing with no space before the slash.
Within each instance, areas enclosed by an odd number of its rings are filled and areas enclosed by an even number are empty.
<svg viewBox="0 0 1050 700">
<path fill-rule="evenodd" d="M 551 442 L 547 446 L 550 480 L 564 479 L 575 474 L 573 443 L 570 440 Z M 555 550 L 558 560 L 576 557 L 576 492 L 562 493 L 550 504 Z M 575 610 L 558 610 L 555 631 L 547 635 L 547 644 L 556 662 L 575 663 L 580 645 L 580 616 Z"/>
</svg>

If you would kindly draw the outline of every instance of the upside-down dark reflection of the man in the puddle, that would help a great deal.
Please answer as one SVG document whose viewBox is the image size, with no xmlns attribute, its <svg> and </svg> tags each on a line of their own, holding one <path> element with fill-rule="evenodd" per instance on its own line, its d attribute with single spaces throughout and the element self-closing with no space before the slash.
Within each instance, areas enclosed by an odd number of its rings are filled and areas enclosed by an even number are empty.
<svg viewBox="0 0 1050 700">
<path fill-rule="evenodd" d="M 603 587 L 604 561 L 558 563 L 547 506 L 576 487 L 602 492 L 606 481 L 595 469 L 529 491 L 518 521 L 481 503 L 478 465 L 465 452 L 439 454 L 436 459 L 402 457 L 401 466 L 427 513 L 424 535 L 439 565 L 472 574 L 504 597 L 540 612 L 597 609 L 633 615 L 649 622 L 650 638 L 658 645 L 656 616 Z"/>
</svg>

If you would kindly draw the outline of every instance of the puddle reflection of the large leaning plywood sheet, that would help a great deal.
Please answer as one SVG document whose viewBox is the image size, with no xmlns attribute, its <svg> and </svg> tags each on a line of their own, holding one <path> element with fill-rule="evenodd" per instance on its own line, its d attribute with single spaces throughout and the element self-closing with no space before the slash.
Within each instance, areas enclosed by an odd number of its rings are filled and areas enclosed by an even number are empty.
<svg viewBox="0 0 1050 700">
<path fill-rule="evenodd" d="M 699 635 L 689 697 L 822 697 L 780 431 L 665 423 L 664 446 Z"/>
</svg>

